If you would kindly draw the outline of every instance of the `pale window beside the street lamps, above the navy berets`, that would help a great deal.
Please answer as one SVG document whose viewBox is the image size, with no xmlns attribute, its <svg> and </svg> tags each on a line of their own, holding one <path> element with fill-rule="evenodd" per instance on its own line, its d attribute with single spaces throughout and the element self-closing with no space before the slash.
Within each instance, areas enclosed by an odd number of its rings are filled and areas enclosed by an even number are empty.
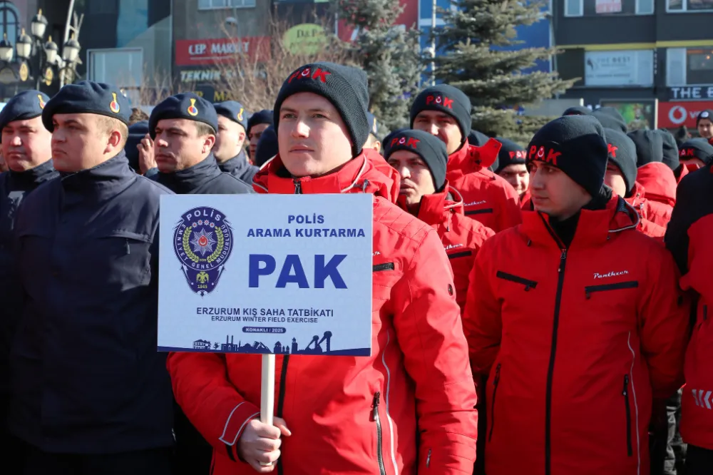
<svg viewBox="0 0 713 475">
<path fill-rule="evenodd" d="M 143 83 L 143 49 L 111 48 L 90 49 L 87 51 L 87 78 L 99 83 L 116 84 L 126 91 L 135 91 Z M 132 103 L 140 103 L 138 96 Z"/>
</svg>

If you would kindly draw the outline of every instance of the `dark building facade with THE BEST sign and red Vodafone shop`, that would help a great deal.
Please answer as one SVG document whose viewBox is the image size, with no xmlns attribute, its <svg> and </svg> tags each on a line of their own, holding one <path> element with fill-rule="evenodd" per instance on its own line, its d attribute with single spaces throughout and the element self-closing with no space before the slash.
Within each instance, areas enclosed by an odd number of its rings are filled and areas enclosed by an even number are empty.
<svg viewBox="0 0 713 475">
<path fill-rule="evenodd" d="M 554 67 L 580 78 L 563 97 L 650 128 L 695 126 L 713 106 L 711 21 L 713 0 L 554 1 Z"/>
</svg>

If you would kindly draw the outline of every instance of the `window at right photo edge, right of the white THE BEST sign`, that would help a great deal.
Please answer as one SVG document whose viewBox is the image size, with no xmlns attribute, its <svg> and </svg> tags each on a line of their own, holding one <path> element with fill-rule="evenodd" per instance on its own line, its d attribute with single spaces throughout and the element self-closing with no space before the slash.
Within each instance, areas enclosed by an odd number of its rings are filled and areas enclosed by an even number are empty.
<svg viewBox="0 0 713 475">
<path fill-rule="evenodd" d="M 666 85 L 713 84 L 713 48 L 668 48 Z"/>
</svg>

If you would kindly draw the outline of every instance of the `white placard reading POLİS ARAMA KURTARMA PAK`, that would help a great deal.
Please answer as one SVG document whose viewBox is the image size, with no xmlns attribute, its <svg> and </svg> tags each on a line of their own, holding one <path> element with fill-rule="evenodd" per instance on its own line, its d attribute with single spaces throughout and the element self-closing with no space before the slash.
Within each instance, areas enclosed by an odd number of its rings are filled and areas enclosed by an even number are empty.
<svg viewBox="0 0 713 475">
<path fill-rule="evenodd" d="M 369 356 L 371 200 L 163 195 L 158 350 Z"/>
</svg>

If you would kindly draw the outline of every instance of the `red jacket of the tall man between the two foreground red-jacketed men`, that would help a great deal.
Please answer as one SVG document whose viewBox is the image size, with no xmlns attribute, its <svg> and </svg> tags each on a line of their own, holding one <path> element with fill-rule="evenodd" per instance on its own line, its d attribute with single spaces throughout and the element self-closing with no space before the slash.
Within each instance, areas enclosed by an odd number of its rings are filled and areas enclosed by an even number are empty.
<svg viewBox="0 0 713 475">
<path fill-rule="evenodd" d="M 520 197 L 505 178 L 488 170 L 502 144 L 491 138 L 482 147 L 466 142 L 448 157 L 446 179 L 463 195 L 466 216 L 498 233 L 518 225 Z"/>
</svg>

